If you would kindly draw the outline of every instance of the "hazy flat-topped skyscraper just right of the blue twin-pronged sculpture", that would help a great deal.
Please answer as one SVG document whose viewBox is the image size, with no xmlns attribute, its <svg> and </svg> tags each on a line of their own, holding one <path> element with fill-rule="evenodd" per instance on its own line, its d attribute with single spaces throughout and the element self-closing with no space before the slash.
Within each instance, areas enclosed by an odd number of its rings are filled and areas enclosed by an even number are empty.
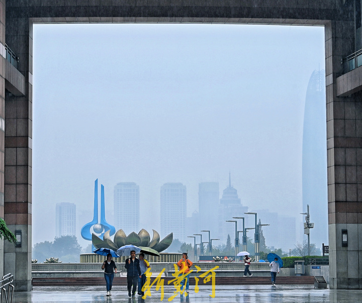
<svg viewBox="0 0 362 303">
<path fill-rule="evenodd" d="M 117 183 L 114 188 L 114 219 L 116 231 L 126 235 L 139 232 L 139 186 L 134 182 Z"/>
</svg>

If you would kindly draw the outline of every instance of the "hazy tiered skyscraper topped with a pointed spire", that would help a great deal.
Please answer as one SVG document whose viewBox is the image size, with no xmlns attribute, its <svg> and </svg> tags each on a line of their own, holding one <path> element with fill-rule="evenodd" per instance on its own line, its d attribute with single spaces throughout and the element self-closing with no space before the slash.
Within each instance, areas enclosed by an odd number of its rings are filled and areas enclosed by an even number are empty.
<svg viewBox="0 0 362 303">
<path fill-rule="evenodd" d="M 235 239 L 235 224 L 232 225 L 232 223 L 226 222 L 226 220 L 235 220 L 233 217 L 245 217 L 245 221 L 247 222 L 247 217 L 244 215 L 244 212 L 247 211 L 248 207 L 242 206 L 237 190 L 231 185 L 231 175 L 229 173 L 229 185 L 224 189 L 222 198 L 220 199 L 218 216 L 219 238 L 223 243 L 226 243 L 228 234 L 231 239 Z M 238 222 L 241 224 L 242 221 L 238 220 Z M 247 225 L 245 225 L 245 227 L 246 226 Z M 238 230 L 241 231 L 242 226 L 239 227 Z M 234 241 L 232 241 L 232 243 L 234 245 Z"/>
</svg>

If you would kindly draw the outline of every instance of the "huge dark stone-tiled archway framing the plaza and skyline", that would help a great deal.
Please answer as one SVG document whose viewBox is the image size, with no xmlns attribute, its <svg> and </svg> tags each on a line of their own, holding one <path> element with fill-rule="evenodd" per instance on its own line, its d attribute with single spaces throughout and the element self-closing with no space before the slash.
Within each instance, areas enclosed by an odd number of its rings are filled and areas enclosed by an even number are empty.
<svg viewBox="0 0 362 303">
<path fill-rule="evenodd" d="M 362 67 L 341 64 L 355 51 L 354 1 L 0 0 L 0 216 L 22 232 L 22 247 L 0 247 L 0 269 L 16 289 L 31 289 L 33 24 L 130 22 L 324 26 L 330 288 L 362 288 Z"/>
</svg>

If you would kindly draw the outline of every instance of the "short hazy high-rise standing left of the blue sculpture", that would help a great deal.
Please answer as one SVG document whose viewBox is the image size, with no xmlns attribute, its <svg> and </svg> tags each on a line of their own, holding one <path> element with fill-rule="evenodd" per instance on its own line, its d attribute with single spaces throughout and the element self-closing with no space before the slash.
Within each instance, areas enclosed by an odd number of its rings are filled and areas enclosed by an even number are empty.
<svg viewBox="0 0 362 303">
<path fill-rule="evenodd" d="M 55 208 L 55 237 L 75 236 L 75 204 L 57 203 Z"/>
</svg>

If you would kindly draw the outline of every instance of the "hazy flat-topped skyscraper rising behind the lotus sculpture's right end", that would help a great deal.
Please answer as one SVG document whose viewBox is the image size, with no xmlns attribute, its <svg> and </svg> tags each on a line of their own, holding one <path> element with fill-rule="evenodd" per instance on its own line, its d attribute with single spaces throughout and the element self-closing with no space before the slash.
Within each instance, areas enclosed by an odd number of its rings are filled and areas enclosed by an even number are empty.
<svg viewBox="0 0 362 303">
<path fill-rule="evenodd" d="M 161 186 L 161 238 L 173 233 L 173 239 L 185 241 L 186 186 L 165 183 Z"/>
</svg>

